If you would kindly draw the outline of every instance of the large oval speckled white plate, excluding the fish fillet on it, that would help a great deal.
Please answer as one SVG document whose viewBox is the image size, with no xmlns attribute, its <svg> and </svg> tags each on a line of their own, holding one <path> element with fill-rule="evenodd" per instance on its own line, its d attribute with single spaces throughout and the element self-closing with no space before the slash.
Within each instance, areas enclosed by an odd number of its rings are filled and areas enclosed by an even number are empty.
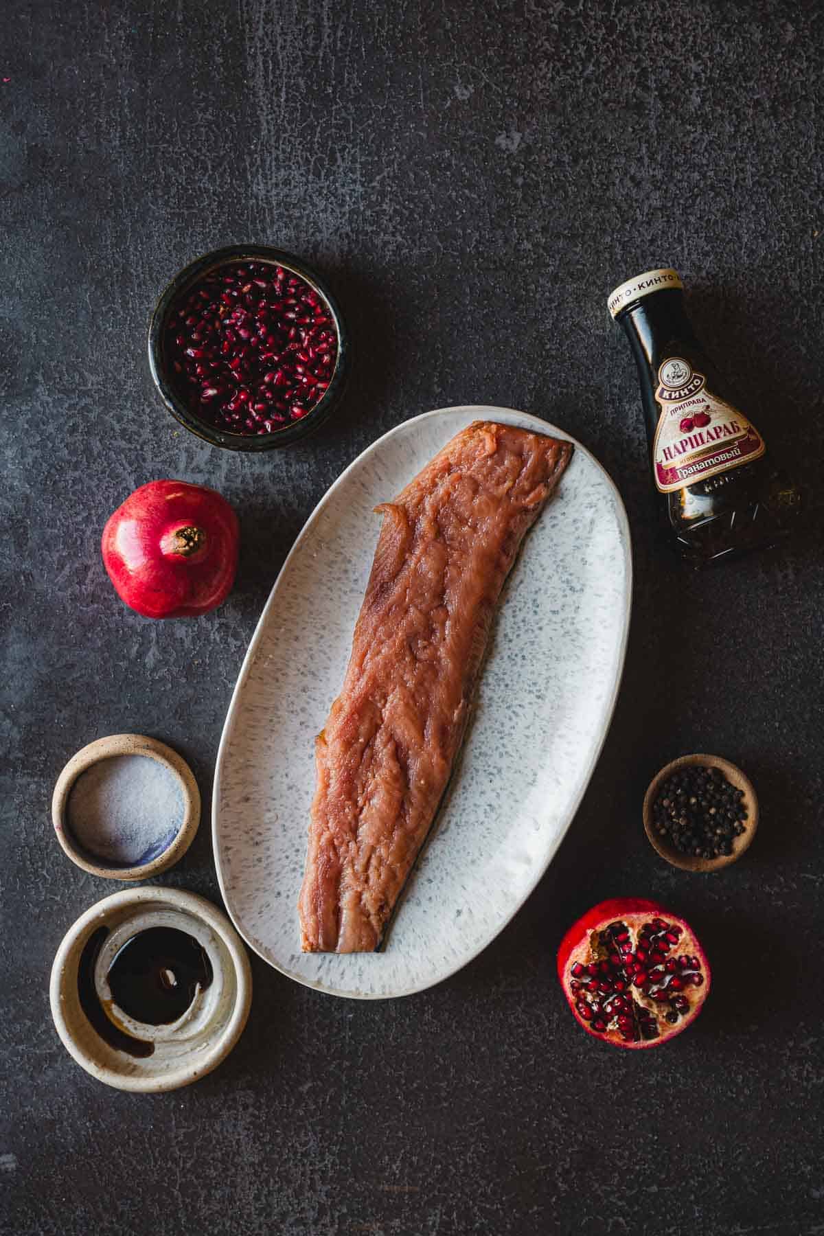
<svg viewBox="0 0 824 1236">
<path fill-rule="evenodd" d="M 405 421 L 335 482 L 295 541 L 241 669 L 217 756 L 214 839 L 246 942 L 338 996 L 409 995 L 466 965 L 546 870 L 600 751 L 624 664 L 631 557 L 615 486 L 579 444 L 504 587 L 474 718 L 380 953 L 301 953 L 314 739 L 343 681 L 380 518 L 472 420 L 568 438 L 504 408 Z"/>
</svg>

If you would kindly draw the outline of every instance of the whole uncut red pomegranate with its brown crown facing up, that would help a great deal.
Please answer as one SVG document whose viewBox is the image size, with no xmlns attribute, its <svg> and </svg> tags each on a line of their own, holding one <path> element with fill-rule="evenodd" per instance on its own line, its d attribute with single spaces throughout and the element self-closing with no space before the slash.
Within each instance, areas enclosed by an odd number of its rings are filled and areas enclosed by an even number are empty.
<svg viewBox="0 0 824 1236">
<path fill-rule="evenodd" d="M 145 618 L 189 618 L 229 596 L 238 543 L 237 515 L 215 489 L 149 481 L 109 517 L 100 548 L 130 609 Z"/>
</svg>

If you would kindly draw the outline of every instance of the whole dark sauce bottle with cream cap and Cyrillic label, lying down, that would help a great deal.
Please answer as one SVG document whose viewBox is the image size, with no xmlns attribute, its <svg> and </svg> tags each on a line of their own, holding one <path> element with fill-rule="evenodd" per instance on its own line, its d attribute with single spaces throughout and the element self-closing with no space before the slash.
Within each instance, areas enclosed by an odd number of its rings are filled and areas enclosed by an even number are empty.
<svg viewBox="0 0 824 1236">
<path fill-rule="evenodd" d="M 646 271 L 607 302 L 630 341 L 652 475 L 682 557 L 693 566 L 773 544 L 801 496 L 766 454 L 759 430 L 723 396 L 696 339 L 676 271 Z"/>
</svg>

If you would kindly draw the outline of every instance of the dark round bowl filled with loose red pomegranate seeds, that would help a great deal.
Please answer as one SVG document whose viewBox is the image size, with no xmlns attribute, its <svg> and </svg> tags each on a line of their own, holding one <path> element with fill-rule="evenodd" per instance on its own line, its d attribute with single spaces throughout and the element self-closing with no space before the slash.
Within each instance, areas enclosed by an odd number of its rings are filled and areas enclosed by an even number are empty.
<svg viewBox="0 0 824 1236">
<path fill-rule="evenodd" d="M 324 281 L 266 246 L 215 250 L 172 281 L 148 361 L 173 417 L 212 446 L 266 451 L 305 438 L 337 404 L 348 336 Z"/>
</svg>

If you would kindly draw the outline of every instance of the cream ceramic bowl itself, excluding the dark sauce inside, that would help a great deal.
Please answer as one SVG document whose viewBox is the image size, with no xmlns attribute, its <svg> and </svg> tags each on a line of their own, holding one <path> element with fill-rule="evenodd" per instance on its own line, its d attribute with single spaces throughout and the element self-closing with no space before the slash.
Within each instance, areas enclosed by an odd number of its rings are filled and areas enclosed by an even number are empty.
<svg viewBox="0 0 824 1236">
<path fill-rule="evenodd" d="M 193 936 L 205 949 L 212 971 L 211 983 L 169 1025 L 137 1022 L 110 1004 L 106 970 L 111 959 L 127 939 L 151 927 L 177 927 Z M 84 1012 L 80 959 L 101 928 L 106 934 L 100 937 L 93 963 L 93 997 L 100 1009 L 111 1010 L 111 1015 L 103 1012 L 111 1023 L 151 1044 L 151 1054 L 136 1057 L 110 1046 Z M 54 958 L 49 995 L 64 1047 L 91 1077 L 117 1090 L 177 1090 L 210 1073 L 231 1052 L 248 1017 L 252 974 L 237 932 L 204 897 L 177 889 L 126 889 L 90 906 L 69 928 Z"/>
</svg>

